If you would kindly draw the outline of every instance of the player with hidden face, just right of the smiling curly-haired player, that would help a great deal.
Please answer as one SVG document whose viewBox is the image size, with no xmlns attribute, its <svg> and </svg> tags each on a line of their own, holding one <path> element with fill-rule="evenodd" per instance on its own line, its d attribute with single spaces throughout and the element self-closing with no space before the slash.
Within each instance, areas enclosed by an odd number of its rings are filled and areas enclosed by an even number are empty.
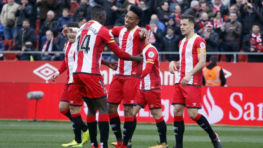
<svg viewBox="0 0 263 148">
<path fill-rule="evenodd" d="M 166 123 L 163 120 L 161 102 L 161 77 L 159 68 L 159 54 L 157 49 L 148 42 L 149 36 L 145 39 L 143 49 L 143 73 L 140 81 L 140 92 L 137 106 L 133 108 L 134 128 L 136 128 L 136 115 L 141 108 L 148 104 L 150 112 L 155 119 L 157 130 L 160 136 L 160 143 L 149 148 L 168 148 L 166 140 Z M 132 134 L 133 134 L 132 132 Z M 132 138 L 132 136 L 131 136 Z"/>
</svg>

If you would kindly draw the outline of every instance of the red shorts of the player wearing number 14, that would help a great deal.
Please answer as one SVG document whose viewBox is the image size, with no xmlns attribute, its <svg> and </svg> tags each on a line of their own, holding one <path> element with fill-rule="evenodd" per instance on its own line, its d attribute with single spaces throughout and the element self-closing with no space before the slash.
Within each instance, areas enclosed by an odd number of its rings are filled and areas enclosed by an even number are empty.
<svg viewBox="0 0 263 148">
<path fill-rule="evenodd" d="M 107 90 L 104 87 L 103 77 L 92 74 L 73 74 L 73 79 L 79 88 L 79 94 L 83 98 L 91 100 L 107 97 Z"/>
</svg>

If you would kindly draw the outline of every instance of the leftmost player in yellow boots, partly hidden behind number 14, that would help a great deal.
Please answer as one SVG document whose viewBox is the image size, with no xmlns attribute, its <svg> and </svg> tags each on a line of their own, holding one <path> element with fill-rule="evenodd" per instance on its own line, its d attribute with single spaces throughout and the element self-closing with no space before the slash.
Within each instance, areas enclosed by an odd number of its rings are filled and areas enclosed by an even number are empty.
<svg viewBox="0 0 263 148">
<path fill-rule="evenodd" d="M 71 28 L 78 28 L 78 24 L 76 22 L 69 22 L 67 26 Z M 65 59 L 63 60 L 59 70 L 51 75 L 51 80 L 55 81 L 59 74 L 62 74 L 67 70 L 68 78 L 59 102 L 59 111 L 72 121 L 75 139 L 68 144 L 62 144 L 62 146 L 82 147 L 88 141 L 89 133 L 88 127 L 82 121 L 80 115 L 80 106 L 82 106 L 83 100 L 79 95 L 79 90 L 74 83 L 72 76 L 75 59 L 76 33 L 68 33 L 67 36 L 68 42 L 66 42 Z M 81 130 L 83 131 L 82 141 Z"/>
</svg>

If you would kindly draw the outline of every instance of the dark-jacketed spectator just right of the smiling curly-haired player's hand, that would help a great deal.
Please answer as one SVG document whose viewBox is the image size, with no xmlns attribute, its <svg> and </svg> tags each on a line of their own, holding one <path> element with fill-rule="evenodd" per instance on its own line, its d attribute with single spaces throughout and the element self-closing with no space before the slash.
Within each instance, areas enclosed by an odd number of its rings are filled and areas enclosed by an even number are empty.
<svg viewBox="0 0 263 148">
<path fill-rule="evenodd" d="M 149 43 L 152 43 L 158 51 L 161 51 L 163 33 L 162 30 L 157 27 L 157 20 L 151 20 L 150 27 L 151 29 L 148 30 L 148 34 L 150 35 Z"/>
</svg>

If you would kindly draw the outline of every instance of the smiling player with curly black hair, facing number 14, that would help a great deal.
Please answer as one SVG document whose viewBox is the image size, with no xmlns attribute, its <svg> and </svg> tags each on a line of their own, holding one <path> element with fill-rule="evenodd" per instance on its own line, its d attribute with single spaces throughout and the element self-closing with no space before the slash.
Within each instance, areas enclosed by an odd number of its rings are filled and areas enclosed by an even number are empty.
<svg viewBox="0 0 263 148">
<path fill-rule="evenodd" d="M 137 6 L 131 6 L 130 11 L 124 18 L 124 26 L 113 28 L 111 33 L 119 38 L 120 48 L 130 55 L 142 53 L 144 39 L 147 37 L 147 30 L 137 26 L 143 16 L 143 10 Z M 140 86 L 141 64 L 119 59 L 118 69 L 111 80 L 108 104 L 110 107 L 109 118 L 111 129 L 114 132 L 117 144 L 116 148 L 126 148 L 133 127 L 133 106 L 136 106 L 137 94 Z M 123 138 L 120 129 L 120 117 L 117 109 L 123 100 L 125 122 L 123 126 Z"/>
</svg>

